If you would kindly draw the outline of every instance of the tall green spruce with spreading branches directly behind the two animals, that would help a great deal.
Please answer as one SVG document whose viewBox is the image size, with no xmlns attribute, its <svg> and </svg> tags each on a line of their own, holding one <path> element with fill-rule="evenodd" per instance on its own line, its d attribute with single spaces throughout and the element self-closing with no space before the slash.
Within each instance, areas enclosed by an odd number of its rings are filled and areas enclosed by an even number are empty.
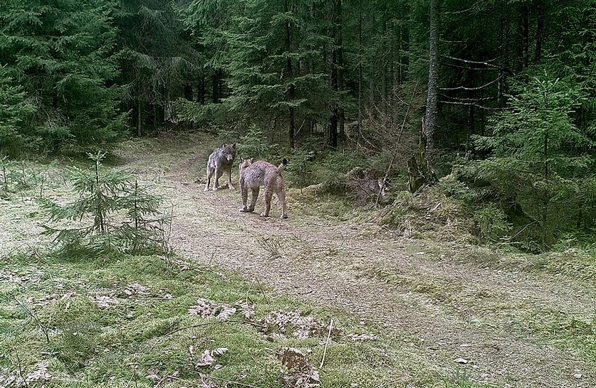
<svg viewBox="0 0 596 388">
<path fill-rule="evenodd" d="M 200 121 L 216 111 L 241 122 L 272 124 L 268 131 L 283 131 L 278 137 L 289 145 L 297 122 L 328 119 L 335 95 L 320 63 L 328 38 L 318 31 L 320 21 L 311 18 L 308 1 L 230 4 L 217 22 L 209 4 L 192 1 L 181 13 L 202 43 L 219 49 L 210 63 L 224 70 L 229 96 L 221 107 L 184 104 L 183 117 Z"/>
</svg>

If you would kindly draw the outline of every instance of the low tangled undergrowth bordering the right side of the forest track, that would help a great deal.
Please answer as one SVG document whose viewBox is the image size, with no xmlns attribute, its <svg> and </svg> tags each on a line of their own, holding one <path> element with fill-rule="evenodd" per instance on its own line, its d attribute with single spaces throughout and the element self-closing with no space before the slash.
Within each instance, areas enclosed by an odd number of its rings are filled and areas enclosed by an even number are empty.
<svg viewBox="0 0 596 388">
<path fill-rule="evenodd" d="M 234 135 L 224 131 L 221 136 Z M 535 184 L 540 183 L 524 182 L 498 166 L 491 172 L 485 162 L 459 158 L 447 166 L 437 161 L 451 173 L 436 185 L 409 193 L 406 161 L 390 154 L 356 145 L 329 150 L 315 138 L 284 153 L 256 127 L 236 139 L 241 156 L 273 163 L 287 157 L 289 187 L 311 198 L 331 195 L 345 200 L 371 217 L 376 215 L 380 225 L 398 235 L 498 244 L 533 253 L 571 245 L 590 250 L 595 244 L 590 177 L 583 180 L 585 189 L 574 183 L 580 179 L 553 186 L 555 191 L 544 205 L 535 193 L 540 190 Z M 585 203 L 578 203 L 581 198 Z"/>
</svg>

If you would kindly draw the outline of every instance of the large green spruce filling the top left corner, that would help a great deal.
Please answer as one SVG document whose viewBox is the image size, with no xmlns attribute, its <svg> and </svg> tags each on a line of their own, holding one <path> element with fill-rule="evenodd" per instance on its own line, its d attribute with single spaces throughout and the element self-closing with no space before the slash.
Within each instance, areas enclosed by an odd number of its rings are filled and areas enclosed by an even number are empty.
<svg viewBox="0 0 596 388">
<path fill-rule="evenodd" d="M 125 114 L 113 57 L 115 1 L 8 0 L 0 11 L 2 61 L 36 102 L 36 136 L 49 151 L 120 139 Z"/>
</svg>

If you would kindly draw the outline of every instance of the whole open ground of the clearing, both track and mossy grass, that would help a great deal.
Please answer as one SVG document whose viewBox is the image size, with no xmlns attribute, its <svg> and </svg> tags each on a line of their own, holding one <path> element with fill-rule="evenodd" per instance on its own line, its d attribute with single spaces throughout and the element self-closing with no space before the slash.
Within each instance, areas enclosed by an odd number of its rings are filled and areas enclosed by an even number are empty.
<svg viewBox="0 0 596 388">
<path fill-rule="evenodd" d="M 399 237 L 297 188 L 286 220 L 276 204 L 268 218 L 239 212 L 239 190 L 203 191 L 216 143 L 183 139 L 129 141 L 115 158 L 171 203 L 172 259 L 46 256 L 39 188 L 1 204 L 3 387 L 31 373 L 47 387 L 278 387 L 283 347 L 312 350 L 321 387 L 594 386 L 593 257 Z M 48 174 L 43 195 L 64 198 L 61 168 Z M 258 317 L 299 311 L 321 328 L 263 335 L 245 318 L 189 315 L 200 298 L 254 301 Z M 368 339 L 333 337 L 319 369 L 330 320 Z M 221 369 L 196 366 L 219 347 Z"/>
</svg>

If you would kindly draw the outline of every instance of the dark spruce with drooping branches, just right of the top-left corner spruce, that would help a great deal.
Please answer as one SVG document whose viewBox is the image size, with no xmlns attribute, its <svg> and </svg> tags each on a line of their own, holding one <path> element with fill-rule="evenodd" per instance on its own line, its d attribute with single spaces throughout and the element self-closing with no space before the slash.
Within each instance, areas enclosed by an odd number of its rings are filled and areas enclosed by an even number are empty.
<svg viewBox="0 0 596 388">
<path fill-rule="evenodd" d="M 132 111 L 137 136 L 144 124 L 159 125 L 175 119 L 173 102 L 192 99 L 193 85 L 202 79 L 199 53 L 184 32 L 172 1 L 122 0 L 115 13 L 119 30 L 117 55 L 125 85 L 125 106 Z"/>
</svg>

